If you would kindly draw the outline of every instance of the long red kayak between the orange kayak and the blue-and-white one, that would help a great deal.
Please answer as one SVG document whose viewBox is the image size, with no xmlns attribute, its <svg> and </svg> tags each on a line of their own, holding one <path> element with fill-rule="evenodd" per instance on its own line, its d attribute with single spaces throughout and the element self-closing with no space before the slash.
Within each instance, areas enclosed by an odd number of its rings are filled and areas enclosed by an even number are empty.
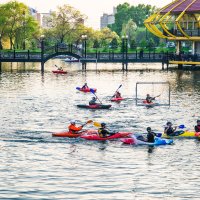
<svg viewBox="0 0 200 200">
<path fill-rule="evenodd" d="M 98 131 L 97 131 L 98 133 Z M 114 135 L 108 136 L 108 137 L 100 137 L 98 134 L 83 134 L 81 138 L 84 138 L 86 140 L 113 140 L 117 138 L 123 138 L 123 137 L 128 137 L 131 132 L 117 132 Z"/>
</svg>

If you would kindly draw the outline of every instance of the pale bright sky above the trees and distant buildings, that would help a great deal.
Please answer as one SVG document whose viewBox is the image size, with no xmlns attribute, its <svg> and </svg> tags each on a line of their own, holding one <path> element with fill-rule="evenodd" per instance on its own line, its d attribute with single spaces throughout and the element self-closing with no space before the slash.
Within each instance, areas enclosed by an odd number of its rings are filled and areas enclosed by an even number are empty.
<svg viewBox="0 0 200 200">
<path fill-rule="evenodd" d="M 6 3 L 9 0 L 0 0 L 0 3 Z M 85 14 L 88 19 L 86 21 L 87 26 L 91 26 L 94 29 L 99 29 L 100 27 L 100 17 L 103 13 L 111 14 L 113 12 L 113 7 L 123 4 L 124 2 L 130 5 L 137 4 L 151 4 L 156 7 L 163 7 L 172 0 L 18 0 L 36 9 L 38 12 L 49 12 L 50 10 L 56 10 L 57 6 L 62 6 L 63 4 L 69 4 L 74 8 Z"/>
</svg>

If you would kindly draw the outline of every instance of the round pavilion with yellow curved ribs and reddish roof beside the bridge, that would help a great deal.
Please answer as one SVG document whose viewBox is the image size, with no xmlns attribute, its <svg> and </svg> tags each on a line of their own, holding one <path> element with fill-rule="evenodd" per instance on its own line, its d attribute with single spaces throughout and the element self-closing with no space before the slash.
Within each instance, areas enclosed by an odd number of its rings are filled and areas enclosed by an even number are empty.
<svg viewBox="0 0 200 200">
<path fill-rule="evenodd" d="M 148 17 L 144 24 L 154 35 L 176 41 L 176 59 L 169 61 L 178 65 L 198 64 L 200 54 L 200 0 L 174 0 Z M 191 43 L 190 60 L 181 52 L 183 42 Z"/>
</svg>

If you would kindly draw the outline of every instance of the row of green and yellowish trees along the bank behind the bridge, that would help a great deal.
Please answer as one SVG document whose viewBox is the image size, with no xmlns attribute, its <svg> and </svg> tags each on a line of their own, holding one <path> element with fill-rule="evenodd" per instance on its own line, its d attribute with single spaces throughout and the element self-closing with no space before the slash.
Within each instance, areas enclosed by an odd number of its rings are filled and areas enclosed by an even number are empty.
<svg viewBox="0 0 200 200">
<path fill-rule="evenodd" d="M 82 43 L 82 35 L 87 35 L 87 46 L 102 50 L 117 49 L 122 36 L 128 36 L 130 48 L 138 44 L 147 46 L 147 31 L 143 21 L 156 8 L 128 3 L 117 6 L 115 23 L 102 30 L 94 30 L 84 25 L 87 19 L 80 11 L 70 5 L 59 6 L 45 17 L 47 27 L 42 28 L 31 15 L 30 8 L 18 1 L 0 4 L 0 49 L 37 49 L 41 35 L 46 45 L 55 43 Z M 156 41 L 157 40 L 157 41 Z M 156 43 L 158 39 L 148 33 L 148 42 Z"/>
</svg>

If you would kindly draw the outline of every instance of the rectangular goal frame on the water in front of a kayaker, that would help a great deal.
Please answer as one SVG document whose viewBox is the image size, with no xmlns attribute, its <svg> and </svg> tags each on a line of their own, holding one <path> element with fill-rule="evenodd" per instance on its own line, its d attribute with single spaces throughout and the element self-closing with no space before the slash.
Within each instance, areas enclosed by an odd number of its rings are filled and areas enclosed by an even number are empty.
<svg viewBox="0 0 200 200">
<path fill-rule="evenodd" d="M 137 82 L 136 83 L 136 105 L 143 106 L 147 94 L 155 97 L 153 100 L 159 106 L 170 105 L 169 82 Z"/>
</svg>

